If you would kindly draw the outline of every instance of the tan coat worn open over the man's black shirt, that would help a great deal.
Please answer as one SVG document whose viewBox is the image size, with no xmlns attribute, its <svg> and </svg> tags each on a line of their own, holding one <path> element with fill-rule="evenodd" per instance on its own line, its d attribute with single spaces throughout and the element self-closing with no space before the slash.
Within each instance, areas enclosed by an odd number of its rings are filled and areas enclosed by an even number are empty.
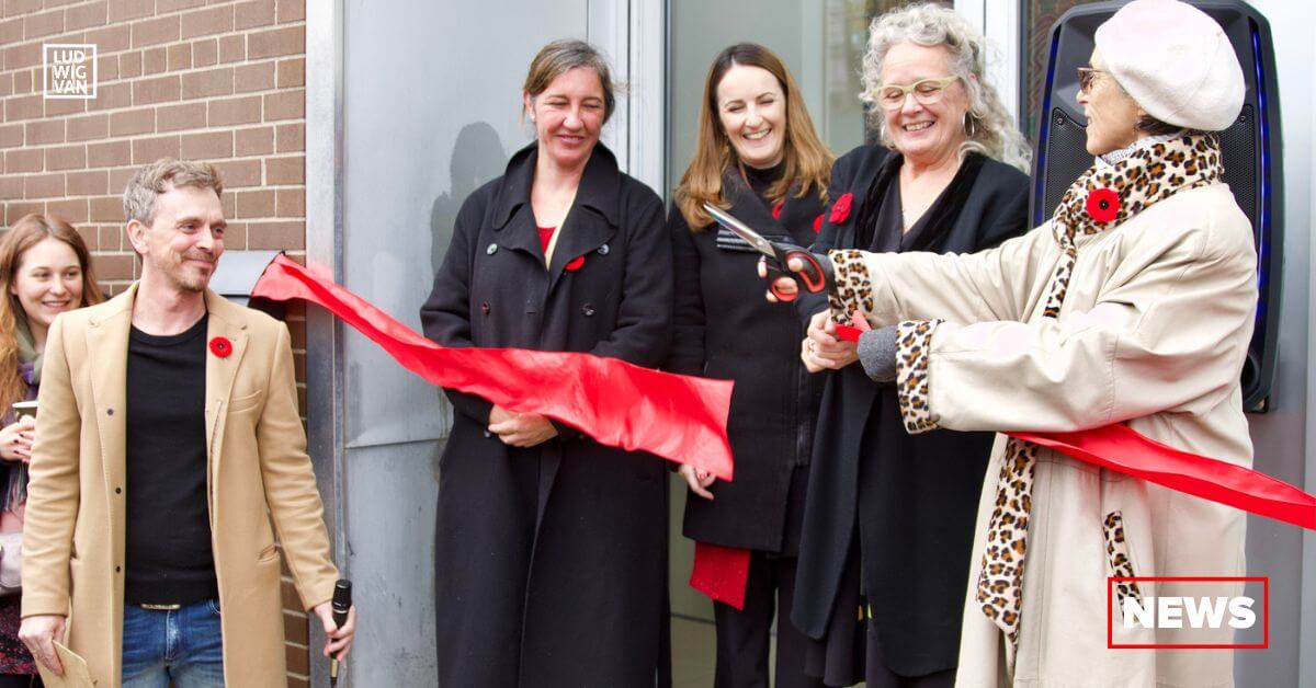
<svg viewBox="0 0 1316 688">
<path fill-rule="evenodd" d="M 137 285 L 64 313 L 46 343 L 28 487 L 22 616 L 67 614 L 68 646 L 120 685 L 124 622 L 124 408 Z M 279 550 L 301 601 L 333 596 L 320 493 L 297 414 L 288 329 L 205 292 L 205 433 L 212 547 L 228 685 L 284 687 Z M 272 529 L 271 529 L 272 522 Z M 161 533 L 167 538 L 167 533 Z"/>
</svg>

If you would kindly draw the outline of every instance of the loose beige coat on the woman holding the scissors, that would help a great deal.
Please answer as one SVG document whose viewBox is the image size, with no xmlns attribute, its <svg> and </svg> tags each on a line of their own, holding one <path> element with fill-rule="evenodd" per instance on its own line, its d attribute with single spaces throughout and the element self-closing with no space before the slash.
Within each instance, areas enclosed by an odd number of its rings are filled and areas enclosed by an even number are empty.
<svg viewBox="0 0 1316 688">
<path fill-rule="evenodd" d="M 1250 467 L 1238 375 L 1257 257 L 1229 188 L 1182 191 L 1079 237 L 1061 316 L 1044 320 L 1059 258 L 1050 224 L 973 255 L 869 255 L 874 325 L 946 320 L 933 333 L 928 367 L 938 425 L 1062 431 L 1126 421 L 1159 442 Z M 1240 576 L 1245 514 L 1045 449 L 1009 675 L 1003 634 L 974 599 L 1004 439 L 998 435 L 979 504 L 958 684 L 1232 685 L 1230 650 L 1107 649 L 1105 579 L 1113 574 L 1103 521 L 1123 513 L 1137 576 Z M 1204 591 L 1175 585 L 1144 583 L 1141 592 Z M 1236 591 L 1229 584 L 1223 593 Z M 1116 645 L 1203 642 L 1200 630 L 1125 630 L 1115 614 Z M 1225 631 L 1213 642 L 1232 638 Z"/>
</svg>

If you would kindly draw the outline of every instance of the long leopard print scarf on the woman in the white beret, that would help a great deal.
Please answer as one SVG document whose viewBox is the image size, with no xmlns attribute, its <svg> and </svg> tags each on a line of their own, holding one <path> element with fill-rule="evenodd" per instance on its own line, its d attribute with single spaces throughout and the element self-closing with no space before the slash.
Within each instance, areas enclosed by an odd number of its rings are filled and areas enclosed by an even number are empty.
<svg viewBox="0 0 1316 688">
<path fill-rule="evenodd" d="M 1063 254 L 1051 275 L 1042 316 L 1058 318 L 1061 314 L 1078 260 L 1078 235 L 1119 226 L 1179 191 L 1219 182 L 1221 174 L 1220 146 L 1213 135 L 1186 135 L 1153 143 L 1115 164 L 1098 164 L 1083 172 L 1065 192 L 1051 218 Z M 1011 656 L 1019 642 L 1036 464 L 1037 445 L 1015 438 L 1007 442 L 976 583 L 978 604 L 1009 638 Z"/>
</svg>

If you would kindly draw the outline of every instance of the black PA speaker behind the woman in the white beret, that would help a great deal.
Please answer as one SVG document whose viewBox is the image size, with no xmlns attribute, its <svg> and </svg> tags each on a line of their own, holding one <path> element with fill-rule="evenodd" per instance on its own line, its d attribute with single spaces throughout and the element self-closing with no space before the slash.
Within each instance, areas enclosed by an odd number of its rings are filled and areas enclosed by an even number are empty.
<svg viewBox="0 0 1316 688">
<path fill-rule="evenodd" d="M 1240 0 L 1188 0 L 1224 29 L 1242 64 L 1248 93 L 1242 112 L 1220 133 L 1225 183 L 1238 207 L 1252 221 L 1257 242 L 1257 324 L 1242 368 L 1244 408 L 1263 413 L 1275 376 L 1275 343 L 1279 339 L 1279 297 L 1283 253 L 1283 175 L 1279 129 L 1279 92 L 1275 86 L 1275 51 L 1270 24 Z M 1059 205 L 1061 196 L 1078 175 L 1092 166 L 1083 109 L 1078 96 L 1078 67 L 1092 54 L 1096 28 L 1123 1 L 1079 5 L 1066 12 L 1050 34 L 1042 109 L 1033 139 L 1033 225 L 1042 224 Z"/>
</svg>

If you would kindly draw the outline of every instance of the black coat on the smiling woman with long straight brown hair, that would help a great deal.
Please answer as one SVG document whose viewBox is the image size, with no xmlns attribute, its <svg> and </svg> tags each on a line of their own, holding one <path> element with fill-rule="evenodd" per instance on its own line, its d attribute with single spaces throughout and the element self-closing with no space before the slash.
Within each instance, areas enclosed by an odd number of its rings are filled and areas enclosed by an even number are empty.
<svg viewBox="0 0 1316 688">
<path fill-rule="evenodd" d="M 809 246 L 822 212 L 816 189 L 792 189 L 778 217 L 737 172 L 724 179 L 729 212 L 761 234 Z M 794 555 L 799 506 L 813 450 L 822 380 L 800 363 L 804 329 L 795 309 L 763 299 L 758 251 L 719 241 L 719 228 L 691 232 L 680 209 L 667 213 L 676 270 L 674 338 L 667 368 L 734 380 L 726 424 L 736 479 L 713 483 L 715 500 L 686 500 L 684 534 L 729 547 Z M 719 246 L 721 243 L 721 246 Z M 799 503 L 788 514 L 792 475 Z M 794 516 L 794 524 L 791 522 Z"/>
</svg>

